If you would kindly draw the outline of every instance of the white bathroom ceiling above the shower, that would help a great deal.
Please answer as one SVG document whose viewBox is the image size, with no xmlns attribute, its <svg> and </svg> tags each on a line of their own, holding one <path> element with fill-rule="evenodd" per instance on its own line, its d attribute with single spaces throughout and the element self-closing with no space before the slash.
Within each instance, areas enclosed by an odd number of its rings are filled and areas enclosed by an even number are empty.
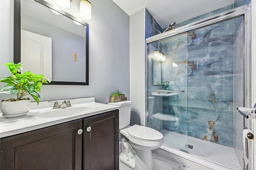
<svg viewBox="0 0 256 170">
<path fill-rule="evenodd" d="M 142 8 L 150 12 L 162 28 L 233 4 L 234 0 L 113 0 L 131 16 Z"/>
</svg>

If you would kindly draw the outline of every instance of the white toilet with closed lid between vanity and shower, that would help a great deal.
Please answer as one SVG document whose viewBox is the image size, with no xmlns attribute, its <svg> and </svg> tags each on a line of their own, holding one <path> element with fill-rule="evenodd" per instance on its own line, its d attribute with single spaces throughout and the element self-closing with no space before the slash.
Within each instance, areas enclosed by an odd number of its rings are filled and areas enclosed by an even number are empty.
<svg viewBox="0 0 256 170">
<path fill-rule="evenodd" d="M 119 141 L 122 146 L 120 161 L 134 170 L 154 170 L 151 150 L 164 143 L 162 133 L 150 127 L 129 126 L 131 101 L 108 104 L 120 106 Z"/>
</svg>

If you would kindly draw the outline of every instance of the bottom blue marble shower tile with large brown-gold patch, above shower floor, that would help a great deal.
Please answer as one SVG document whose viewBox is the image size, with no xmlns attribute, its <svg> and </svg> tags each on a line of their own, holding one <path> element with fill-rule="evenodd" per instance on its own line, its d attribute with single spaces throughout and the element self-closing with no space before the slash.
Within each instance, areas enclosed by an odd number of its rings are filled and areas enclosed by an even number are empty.
<svg viewBox="0 0 256 170">
<path fill-rule="evenodd" d="M 189 136 L 233 147 L 233 124 L 233 111 L 188 107 Z"/>
</svg>

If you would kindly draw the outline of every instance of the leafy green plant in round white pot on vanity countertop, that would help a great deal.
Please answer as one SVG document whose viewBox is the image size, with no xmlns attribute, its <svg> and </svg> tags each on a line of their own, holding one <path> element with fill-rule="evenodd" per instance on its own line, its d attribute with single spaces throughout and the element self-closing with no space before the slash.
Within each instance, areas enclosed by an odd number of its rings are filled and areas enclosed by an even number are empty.
<svg viewBox="0 0 256 170">
<path fill-rule="evenodd" d="M 3 115 L 15 115 L 26 113 L 29 111 L 31 101 L 29 98 L 24 98 L 26 95 L 32 96 L 39 104 L 40 95 L 43 83 L 50 83 L 51 80 L 44 77 L 42 74 L 34 74 L 30 71 L 20 73 L 22 70 L 22 64 L 14 64 L 13 62 L 5 63 L 8 70 L 12 73 L 12 76 L 0 78 L 0 82 L 7 83 L 6 86 L 0 88 L 0 93 L 4 94 L 16 94 L 16 99 L 8 99 L 1 101 L 1 111 Z M 17 115 L 20 116 L 20 115 Z"/>
</svg>

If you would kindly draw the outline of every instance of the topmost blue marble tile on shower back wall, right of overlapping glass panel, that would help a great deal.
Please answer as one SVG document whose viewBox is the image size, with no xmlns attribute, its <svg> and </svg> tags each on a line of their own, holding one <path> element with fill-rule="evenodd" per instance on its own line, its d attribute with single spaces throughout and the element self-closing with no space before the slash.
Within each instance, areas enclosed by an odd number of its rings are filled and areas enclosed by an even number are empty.
<svg viewBox="0 0 256 170">
<path fill-rule="evenodd" d="M 234 21 L 228 20 L 188 32 L 188 46 L 227 39 L 233 36 Z"/>
</svg>

